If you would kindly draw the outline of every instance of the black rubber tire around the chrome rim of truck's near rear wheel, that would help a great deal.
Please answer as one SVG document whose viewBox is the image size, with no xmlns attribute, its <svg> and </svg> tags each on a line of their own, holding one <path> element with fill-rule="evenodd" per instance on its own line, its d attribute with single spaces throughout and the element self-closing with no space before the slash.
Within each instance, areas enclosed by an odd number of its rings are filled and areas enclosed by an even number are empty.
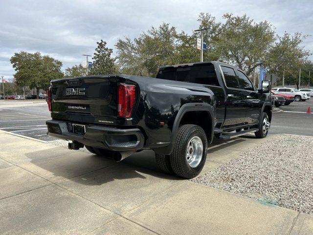
<svg viewBox="0 0 313 235">
<path fill-rule="evenodd" d="M 202 142 L 202 154 L 195 167 L 188 164 L 187 148 L 190 147 L 191 139 L 198 139 Z M 194 151 L 197 151 L 194 150 Z M 191 179 L 199 175 L 205 160 L 207 151 L 207 140 L 203 129 L 197 125 L 182 125 L 179 127 L 173 152 L 170 155 L 170 161 L 173 171 L 180 177 Z M 191 151 L 193 153 L 193 151 Z M 200 151 L 201 153 L 201 151 Z"/>
</svg>

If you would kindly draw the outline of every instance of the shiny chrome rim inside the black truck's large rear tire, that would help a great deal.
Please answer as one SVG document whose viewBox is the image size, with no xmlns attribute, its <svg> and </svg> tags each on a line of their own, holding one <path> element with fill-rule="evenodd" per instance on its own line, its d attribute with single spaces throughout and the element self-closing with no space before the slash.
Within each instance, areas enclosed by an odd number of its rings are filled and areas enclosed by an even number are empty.
<svg viewBox="0 0 313 235">
<path fill-rule="evenodd" d="M 194 136 L 190 139 L 187 146 L 187 162 L 191 167 L 197 167 L 202 159 L 203 144 L 198 136 Z"/>
</svg>

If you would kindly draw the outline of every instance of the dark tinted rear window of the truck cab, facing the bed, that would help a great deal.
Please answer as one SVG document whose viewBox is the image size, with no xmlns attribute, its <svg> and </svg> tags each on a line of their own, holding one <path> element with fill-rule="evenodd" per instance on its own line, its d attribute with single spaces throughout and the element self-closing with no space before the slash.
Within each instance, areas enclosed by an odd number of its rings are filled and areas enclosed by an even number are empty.
<svg viewBox="0 0 313 235">
<path fill-rule="evenodd" d="M 214 65 L 194 65 L 183 68 L 168 67 L 161 69 L 156 78 L 220 86 Z"/>
</svg>

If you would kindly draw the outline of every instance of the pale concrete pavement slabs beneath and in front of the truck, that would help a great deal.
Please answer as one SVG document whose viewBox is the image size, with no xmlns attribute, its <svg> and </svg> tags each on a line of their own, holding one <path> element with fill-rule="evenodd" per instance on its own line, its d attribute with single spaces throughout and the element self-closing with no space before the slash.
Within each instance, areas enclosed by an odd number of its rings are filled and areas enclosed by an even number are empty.
<svg viewBox="0 0 313 235">
<path fill-rule="evenodd" d="M 268 137 L 266 140 L 268 140 Z M 313 216 L 0 131 L 0 234 L 313 234 Z M 202 173 L 264 139 L 215 141 Z"/>
</svg>

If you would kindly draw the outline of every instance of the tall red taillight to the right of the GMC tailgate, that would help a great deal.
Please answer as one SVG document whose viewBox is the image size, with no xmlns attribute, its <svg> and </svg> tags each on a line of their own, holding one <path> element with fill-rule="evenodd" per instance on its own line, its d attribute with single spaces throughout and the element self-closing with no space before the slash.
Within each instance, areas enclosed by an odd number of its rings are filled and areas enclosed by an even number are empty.
<svg viewBox="0 0 313 235">
<path fill-rule="evenodd" d="M 117 114 L 118 117 L 129 118 L 136 103 L 136 87 L 120 84 L 117 87 Z"/>
</svg>

